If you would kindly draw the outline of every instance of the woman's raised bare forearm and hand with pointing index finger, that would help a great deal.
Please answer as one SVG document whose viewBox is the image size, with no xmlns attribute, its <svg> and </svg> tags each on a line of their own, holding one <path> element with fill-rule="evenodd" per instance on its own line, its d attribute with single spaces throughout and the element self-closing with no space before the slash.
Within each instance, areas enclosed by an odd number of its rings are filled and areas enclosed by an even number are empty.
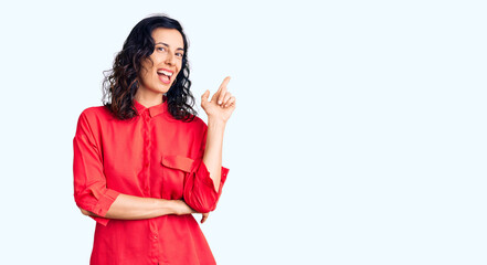
<svg viewBox="0 0 487 265">
<path fill-rule="evenodd" d="M 226 121 L 235 109 L 235 97 L 226 91 L 230 76 L 226 76 L 219 91 L 208 100 L 210 92 L 201 96 L 201 107 L 208 115 L 207 146 L 203 155 L 203 163 L 210 172 L 214 189 L 218 192 L 221 180 L 223 132 Z"/>
</svg>

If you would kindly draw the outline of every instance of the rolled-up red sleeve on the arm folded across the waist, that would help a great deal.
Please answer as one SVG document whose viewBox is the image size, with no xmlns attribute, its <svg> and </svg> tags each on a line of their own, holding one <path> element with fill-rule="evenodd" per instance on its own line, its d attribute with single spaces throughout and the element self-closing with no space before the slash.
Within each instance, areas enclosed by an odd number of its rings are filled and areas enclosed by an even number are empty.
<svg viewBox="0 0 487 265">
<path fill-rule="evenodd" d="M 89 121 L 85 113 L 82 113 L 73 139 L 74 200 L 78 208 L 105 216 L 119 192 L 106 187 L 102 153 L 95 142 Z M 109 221 L 105 218 L 91 218 L 103 225 Z"/>
</svg>

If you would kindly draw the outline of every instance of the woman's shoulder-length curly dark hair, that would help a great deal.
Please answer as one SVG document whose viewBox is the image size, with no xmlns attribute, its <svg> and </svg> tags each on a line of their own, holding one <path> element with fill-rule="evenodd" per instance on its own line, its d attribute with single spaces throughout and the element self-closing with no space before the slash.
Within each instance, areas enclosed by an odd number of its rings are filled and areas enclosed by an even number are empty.
<svg viewBox="0 0 487 265">
<path fill-rule="evenodd" d="M 141 64 L 155 51 L 152 31 L 158 28 L 178 30 L 184 42 L 181 70 L 165 97 L 169 113 L 183 121 L 191 121 L 197 115 L 193 108 L 194 97 L 190 91 L 188 40 L 177 20 L 158 14 L 146 18 L 134 26 L 121 51 L 116 55 L 113 68 L 104 72 L 102 100 L 118 119 L 129 119 L 137 115 L 134 97 L 139 87 Z"/>
</svg>

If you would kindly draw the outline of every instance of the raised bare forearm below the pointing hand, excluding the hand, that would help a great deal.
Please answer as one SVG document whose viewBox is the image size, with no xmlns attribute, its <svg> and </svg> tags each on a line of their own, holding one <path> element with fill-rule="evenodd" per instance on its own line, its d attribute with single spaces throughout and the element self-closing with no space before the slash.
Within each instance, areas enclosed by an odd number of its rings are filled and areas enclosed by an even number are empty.
<svg viewBox="0 0 487 265">
<path fill-rule="evenodd" d="M 207 147 L 204 149 L 203 162 L 213 180 L 214 189 L 218 192 L 222 174 L 222 147 L 223 132 L 226 123 L 219 119 L 208 119 Z"/>
</svg>

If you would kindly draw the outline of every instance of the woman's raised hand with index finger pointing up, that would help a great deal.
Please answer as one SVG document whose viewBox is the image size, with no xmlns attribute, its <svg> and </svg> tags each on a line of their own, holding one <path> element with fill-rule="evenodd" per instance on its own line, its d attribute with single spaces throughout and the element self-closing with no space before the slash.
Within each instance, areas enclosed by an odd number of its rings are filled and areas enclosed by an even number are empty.
<svg viewBox="0 0 487 265">
<path fill-rule="evenodd" d="M 220 85 L 219 91 L 208 100 L 210 91 L 205 91 L 201 96 L 201 107 L 208 115 L 208 119 L 216 119 L 226 123 L 235 109 L 235 97 L 226 91 L 230 76 L 226 76 Z"/>
</svg>

